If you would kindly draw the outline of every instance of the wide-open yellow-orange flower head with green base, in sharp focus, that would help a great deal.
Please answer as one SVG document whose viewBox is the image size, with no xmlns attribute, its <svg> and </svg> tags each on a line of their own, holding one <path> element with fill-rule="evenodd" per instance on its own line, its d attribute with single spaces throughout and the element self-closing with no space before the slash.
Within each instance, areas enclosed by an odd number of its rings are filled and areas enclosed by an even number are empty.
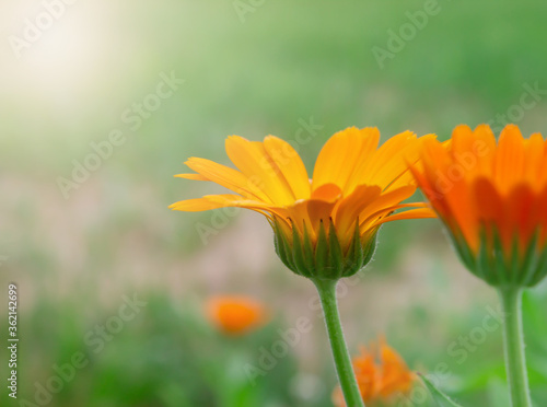
<svg viewBox="0 0 547 407">
<path fill-rule="evenodd" d="M 264 214 L 276 232 L 276 249 L 294 272 L 338 279 L 357 272 L 371 258 L 381 224 L 434 217 L 423 203 L 400 203 L 416 190 L 407 161 L 418 160 L 423 140 L 405 131 L 377 148 L 376 128 L 348 128 L 334 135 L 317 158 L 313 179 L 288 142 L 231 136 L 225 148 L 237 170 L 191 158 L 197 174 L 236 194 L 208 195 L 173 203 L 182 211 L 242 207 Z M 397 209 L 417 208 L 393 214 Z"/>
</svg>

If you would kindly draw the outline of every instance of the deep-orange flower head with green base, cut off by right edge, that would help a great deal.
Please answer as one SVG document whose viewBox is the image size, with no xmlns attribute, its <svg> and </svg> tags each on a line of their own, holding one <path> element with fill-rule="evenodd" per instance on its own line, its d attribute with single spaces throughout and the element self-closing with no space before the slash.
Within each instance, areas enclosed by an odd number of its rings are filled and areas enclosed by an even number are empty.
<svg viewBox="0 0 547 407">
<path fill-rule="evenodd" d="M 492 286 L 534 286 L 547 274 L 547 142 L 507 126 L 456 127 L 446 148 L 423 143 L 412 166 L 465 265 Z"/>
</svg>

